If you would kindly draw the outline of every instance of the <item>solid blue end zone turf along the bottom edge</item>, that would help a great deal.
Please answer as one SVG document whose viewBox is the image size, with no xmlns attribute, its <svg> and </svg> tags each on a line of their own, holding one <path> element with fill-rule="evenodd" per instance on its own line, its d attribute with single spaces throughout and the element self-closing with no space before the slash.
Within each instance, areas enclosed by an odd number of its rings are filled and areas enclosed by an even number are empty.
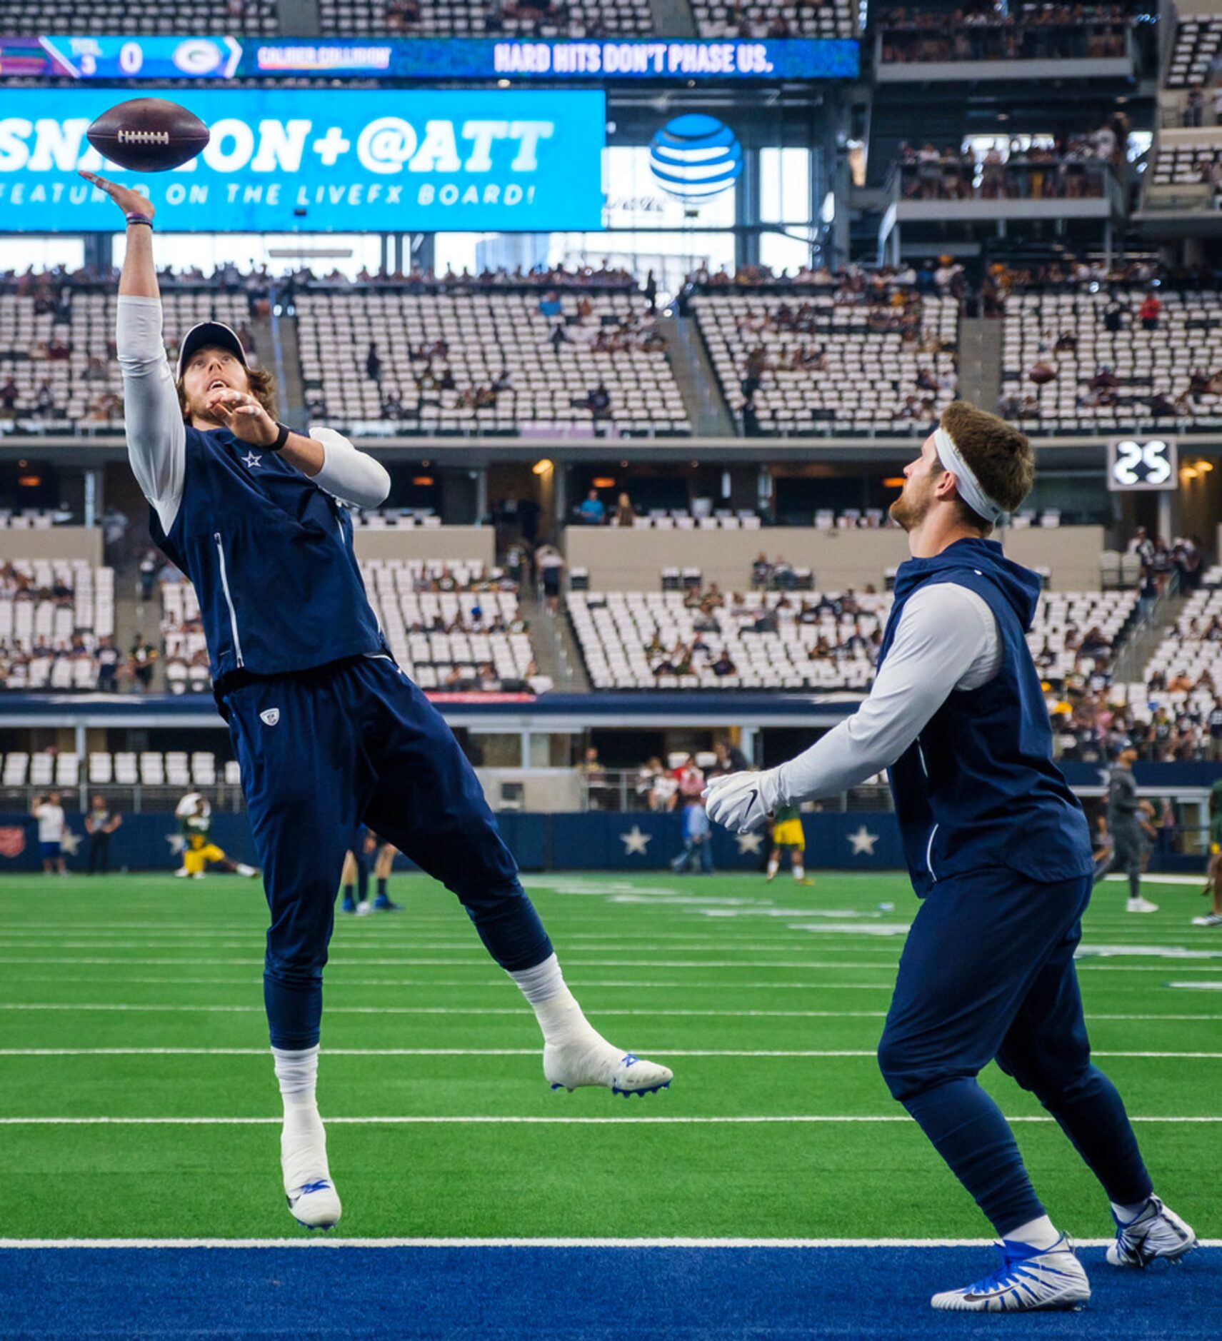
<svg viewBox="0 0 1222 1341">
<path fill-rule="evenodd" d="M 667 1337 L 1215 1341 L 1222 1251 L 1121 1271 L 1084 1248 L 1082 1313 L 934 1313 L 985 1247 L 30 1248 L 0 1252 L 4 1341 Z"/>
</svg>

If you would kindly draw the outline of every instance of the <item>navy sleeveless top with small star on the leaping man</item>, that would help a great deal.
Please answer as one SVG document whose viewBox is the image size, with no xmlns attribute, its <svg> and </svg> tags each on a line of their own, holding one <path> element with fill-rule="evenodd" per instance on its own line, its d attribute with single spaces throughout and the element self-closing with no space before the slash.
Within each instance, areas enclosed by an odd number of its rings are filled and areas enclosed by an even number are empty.
<svg viewBox="0 0 1222 1341">
<path fill-rule="evenodd" d="M 195 583 L 219 696 L 225 677 L 386 653 L 346 508 L 275 452 L 188 425 L 178 515 L 149 526 Z"/>
</svg>

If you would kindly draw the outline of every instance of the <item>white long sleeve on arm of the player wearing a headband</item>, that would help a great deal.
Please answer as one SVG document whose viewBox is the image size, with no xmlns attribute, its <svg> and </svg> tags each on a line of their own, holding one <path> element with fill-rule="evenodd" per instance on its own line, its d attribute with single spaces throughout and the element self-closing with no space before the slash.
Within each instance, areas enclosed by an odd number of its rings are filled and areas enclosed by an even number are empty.
<svg viewBox="0 0 1222 1341">
<path fill-rule="evenodd" d="M 781 803 L 856 787 L 895 763 L 954 689 L 978 689 L 1001 669 L 1001 637 L 983 597 L 954 582 L 915 591 L 869 697 L 777 770 Z"/>
</svg>

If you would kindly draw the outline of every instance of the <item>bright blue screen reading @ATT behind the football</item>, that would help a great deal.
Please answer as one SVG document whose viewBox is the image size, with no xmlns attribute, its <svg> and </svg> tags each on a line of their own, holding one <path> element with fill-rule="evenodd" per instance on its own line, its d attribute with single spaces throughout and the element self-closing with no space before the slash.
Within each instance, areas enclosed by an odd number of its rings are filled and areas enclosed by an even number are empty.
<svg viewBox="0 0 1222 1341">
<path fill-rule="evenodd" d="M 140 186 L 169 232 L 531 231 L 602 227 L 602 93 L 185 90 L 212 131 L 165 173 L 109 165 L 85 133 L 117 89 L 9 89 L 0 231 L 122 228 L 86 168 Z"/>
</svg>

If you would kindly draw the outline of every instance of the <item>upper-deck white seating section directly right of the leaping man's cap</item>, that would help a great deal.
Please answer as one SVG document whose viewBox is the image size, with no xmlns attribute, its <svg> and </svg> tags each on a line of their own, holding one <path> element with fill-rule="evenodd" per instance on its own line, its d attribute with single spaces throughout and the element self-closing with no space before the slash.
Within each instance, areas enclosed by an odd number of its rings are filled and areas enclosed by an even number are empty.
<svg viewBox="0 0 1222 1341">
<path fill-rule="evenodd" d="M 578 323 L 582 296 L 593 311 Z M 296 312 L 306 398 L 319 418 L 325 408 L 342 424 L 390 420 L 406 433 L 524 433 L 533 425 L 573 433 L 592 429 L 585 402 L 602 384 L 610 432 L 691 432 L 664 350 L 647 350 L 634 337 L 630 347 L 590 347 L 600 333 L 614 333 L 633 316 L 629 294 L 559 295 L 569 322 L 562 327 L 567 342 L 557 347 L 549 337 L 558 322 L 539 312 L 539 300 L 538 292 L 302 294 Z M 421 357 L 439 341 L 444 351 Z M 368 375 L 370 343 L 381 361 L 380 381 Z M 444 380 L 447 369 L 451 389 L 421 385 Z M 503 373 L 508 384 L 492 396 Z M 476 390 L 491 396 L 487 405 L 469 404 Z M 388 398 L 398 408 L 384 412 Z"/>
</svg>

